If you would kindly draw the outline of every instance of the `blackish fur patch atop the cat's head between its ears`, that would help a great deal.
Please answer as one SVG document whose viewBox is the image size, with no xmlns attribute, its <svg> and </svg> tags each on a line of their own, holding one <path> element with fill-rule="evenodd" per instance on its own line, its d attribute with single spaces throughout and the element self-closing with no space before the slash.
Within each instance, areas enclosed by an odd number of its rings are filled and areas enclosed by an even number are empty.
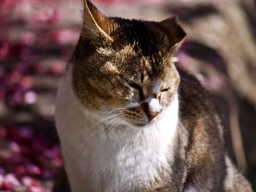
<svg viewBox="0 0 256 192">
<path fill-rule="evenodd" d="M 167 35 L 157 27 L 156 22 L 116 18 L 113 37 L 113 46 L 117 49 L 151 58 L 167 52 L 169 46 Z"/>
</svg>

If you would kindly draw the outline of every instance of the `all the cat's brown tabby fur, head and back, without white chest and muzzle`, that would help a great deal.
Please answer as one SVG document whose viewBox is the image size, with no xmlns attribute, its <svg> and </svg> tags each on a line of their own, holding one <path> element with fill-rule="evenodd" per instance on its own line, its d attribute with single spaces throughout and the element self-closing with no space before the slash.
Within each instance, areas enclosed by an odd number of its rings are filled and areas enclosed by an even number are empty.
<svg viewBox="0 0 256 192">
<path fill-rule="evenodd" d="M 176 18 L 162 22 L 105 18 L 85 1 L 83 32 L 70 62 L 75 94 L 87 109 L 98 111 L 106 103 L 116 108 L 129 101 L 143 101 L 153 94 L 150 87 L 162 80 L 162 88 L 169 88 L 167 93 L 157 93 L 162 106 L 173 101 L 178 89 L 180 122 L 173 142 L 175 155 L 170 157 L 174 158 L 170 166 L 162 167 L 140 191 L 184 191 L 189 187 L 252 191 L 236 168 L 225 161 L 222 126 L 208 93 L 194 77 L 173 64 L 185 36 Z M 140 85 L 142 93 L 127 82 Z M 143 110 L 143 106 L 131 109 L 129 119 L 140 123 L 132 112 Z M 69 191 L 67 183 L 67 177 L 60 177 L 53 191 Z"/>
</svg>

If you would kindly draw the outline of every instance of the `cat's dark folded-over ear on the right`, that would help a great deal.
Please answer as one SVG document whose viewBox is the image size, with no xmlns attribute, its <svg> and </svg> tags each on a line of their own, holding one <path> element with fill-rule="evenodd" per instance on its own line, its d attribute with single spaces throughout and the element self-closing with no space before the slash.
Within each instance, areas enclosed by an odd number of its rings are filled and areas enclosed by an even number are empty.
<svg viewBox="0 0 256 192">
<path fill-rule="evenodd" d="M 177 17 L 162 20 L 160 24 L 168 31 L 168 39 L 171 48 L 178 48 L 181 42 L 187 37 L 184 29 L 178 24 Z"/>
</svg>

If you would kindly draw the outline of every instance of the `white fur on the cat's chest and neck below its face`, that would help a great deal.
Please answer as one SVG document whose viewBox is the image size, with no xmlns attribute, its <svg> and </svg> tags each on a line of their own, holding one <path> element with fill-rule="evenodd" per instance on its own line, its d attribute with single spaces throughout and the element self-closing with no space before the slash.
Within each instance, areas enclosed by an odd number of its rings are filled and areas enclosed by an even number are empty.
<svg viewBox="0 0 256 192">
<path fill-rule="evenodd" d="M 100 119 L 83 108 L 70 81 L 67 74 L 59 88 L 56 126 L 72 192 L 139 191 L 171 160 L 178 96 L 148 127 L 117 127 L 91 137 Z"/>
</svg>

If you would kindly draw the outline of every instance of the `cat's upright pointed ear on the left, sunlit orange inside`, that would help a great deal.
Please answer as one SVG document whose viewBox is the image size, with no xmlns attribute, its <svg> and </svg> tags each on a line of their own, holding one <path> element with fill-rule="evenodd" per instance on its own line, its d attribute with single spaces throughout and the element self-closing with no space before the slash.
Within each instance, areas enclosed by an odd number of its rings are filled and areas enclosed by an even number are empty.
<svg viewBox="0 0 256 192">
<path fill-rule="evenodd" d="M 83 0 L 82 38 L 95 43 L 110 43 L 113 23 L 95 7 L 91 1 Z"/>
</svg>

